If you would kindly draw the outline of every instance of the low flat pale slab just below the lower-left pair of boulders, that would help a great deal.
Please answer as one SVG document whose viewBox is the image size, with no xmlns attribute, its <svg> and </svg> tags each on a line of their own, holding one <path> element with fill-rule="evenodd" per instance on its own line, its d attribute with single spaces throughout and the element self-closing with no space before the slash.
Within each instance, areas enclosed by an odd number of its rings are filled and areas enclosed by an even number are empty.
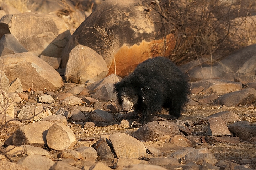
<svg viewBox="0 0 256 170">
<path fill-rule="evenodd" d="M 26 152 L 27 155 L 42 155 L 48 158 L 52 158 L 52 156 L 43 148 L 35 147 L 32 145 L 21 145 L 23 152 Z"/>
</svg>

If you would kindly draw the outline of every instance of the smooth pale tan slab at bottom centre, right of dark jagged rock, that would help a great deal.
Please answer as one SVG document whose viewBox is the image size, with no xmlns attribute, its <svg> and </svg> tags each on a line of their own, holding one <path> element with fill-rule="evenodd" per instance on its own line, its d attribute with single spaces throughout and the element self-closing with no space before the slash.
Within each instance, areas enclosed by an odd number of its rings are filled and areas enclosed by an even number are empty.
<svg viewBox="0 0 256 170">
<path fill-rule="evenodd" d="M 119 157 L 139 158 L 146 155 L 146 148 L 144 144 L 132 136 L 124 133 L 115 133 L 109 137 L 114 152 Z"/>
</svg>

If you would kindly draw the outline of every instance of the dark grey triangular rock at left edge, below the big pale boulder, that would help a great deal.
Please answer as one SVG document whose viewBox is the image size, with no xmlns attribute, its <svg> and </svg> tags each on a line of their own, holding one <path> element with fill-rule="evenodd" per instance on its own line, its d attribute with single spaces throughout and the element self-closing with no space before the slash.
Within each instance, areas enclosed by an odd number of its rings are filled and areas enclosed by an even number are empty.
<svg viewBox="0 0 256 170">
<path fill-rule="evenodd" d="M 4 34 L 0 39 L 0 56 L 28 52 L 12 34 Z"/>
</svg>

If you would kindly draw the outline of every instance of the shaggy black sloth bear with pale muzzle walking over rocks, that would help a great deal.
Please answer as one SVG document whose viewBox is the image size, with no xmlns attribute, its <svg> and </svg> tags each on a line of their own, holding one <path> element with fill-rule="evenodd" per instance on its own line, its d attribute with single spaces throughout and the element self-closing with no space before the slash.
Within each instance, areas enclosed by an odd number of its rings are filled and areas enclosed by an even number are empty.
<svg viewBox="0 0 256 170">
<path fill-rule="evenodd" d="M 140 63 L 135 70 L 120 82 L 114 84 L 114 92 L 122 109 L 129 112 L 134 107 L 134 115 L 140 121 L 132 126 L 142 126 L 149 122 L 149 116 L 169 109 L 169 119 L 180 117 L 188 102 L 190 84 L 171 60 L 155 57 Z"/>
</svg>

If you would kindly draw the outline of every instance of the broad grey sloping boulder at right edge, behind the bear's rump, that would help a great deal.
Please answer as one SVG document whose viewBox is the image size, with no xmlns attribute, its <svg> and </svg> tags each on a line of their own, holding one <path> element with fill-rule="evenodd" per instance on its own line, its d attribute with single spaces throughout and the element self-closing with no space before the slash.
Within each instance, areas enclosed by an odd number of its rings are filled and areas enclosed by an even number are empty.
<svg viewBox="0 0 256 170">
<path fill-rule="evenodd" d="M 256 74 L 256 44 L 246 46 L 213 66 L 202 65 L 188 70 L 191 81 L 202 79 L 238 79 L 243 84 L 253 82 Z"/>
</svg>

